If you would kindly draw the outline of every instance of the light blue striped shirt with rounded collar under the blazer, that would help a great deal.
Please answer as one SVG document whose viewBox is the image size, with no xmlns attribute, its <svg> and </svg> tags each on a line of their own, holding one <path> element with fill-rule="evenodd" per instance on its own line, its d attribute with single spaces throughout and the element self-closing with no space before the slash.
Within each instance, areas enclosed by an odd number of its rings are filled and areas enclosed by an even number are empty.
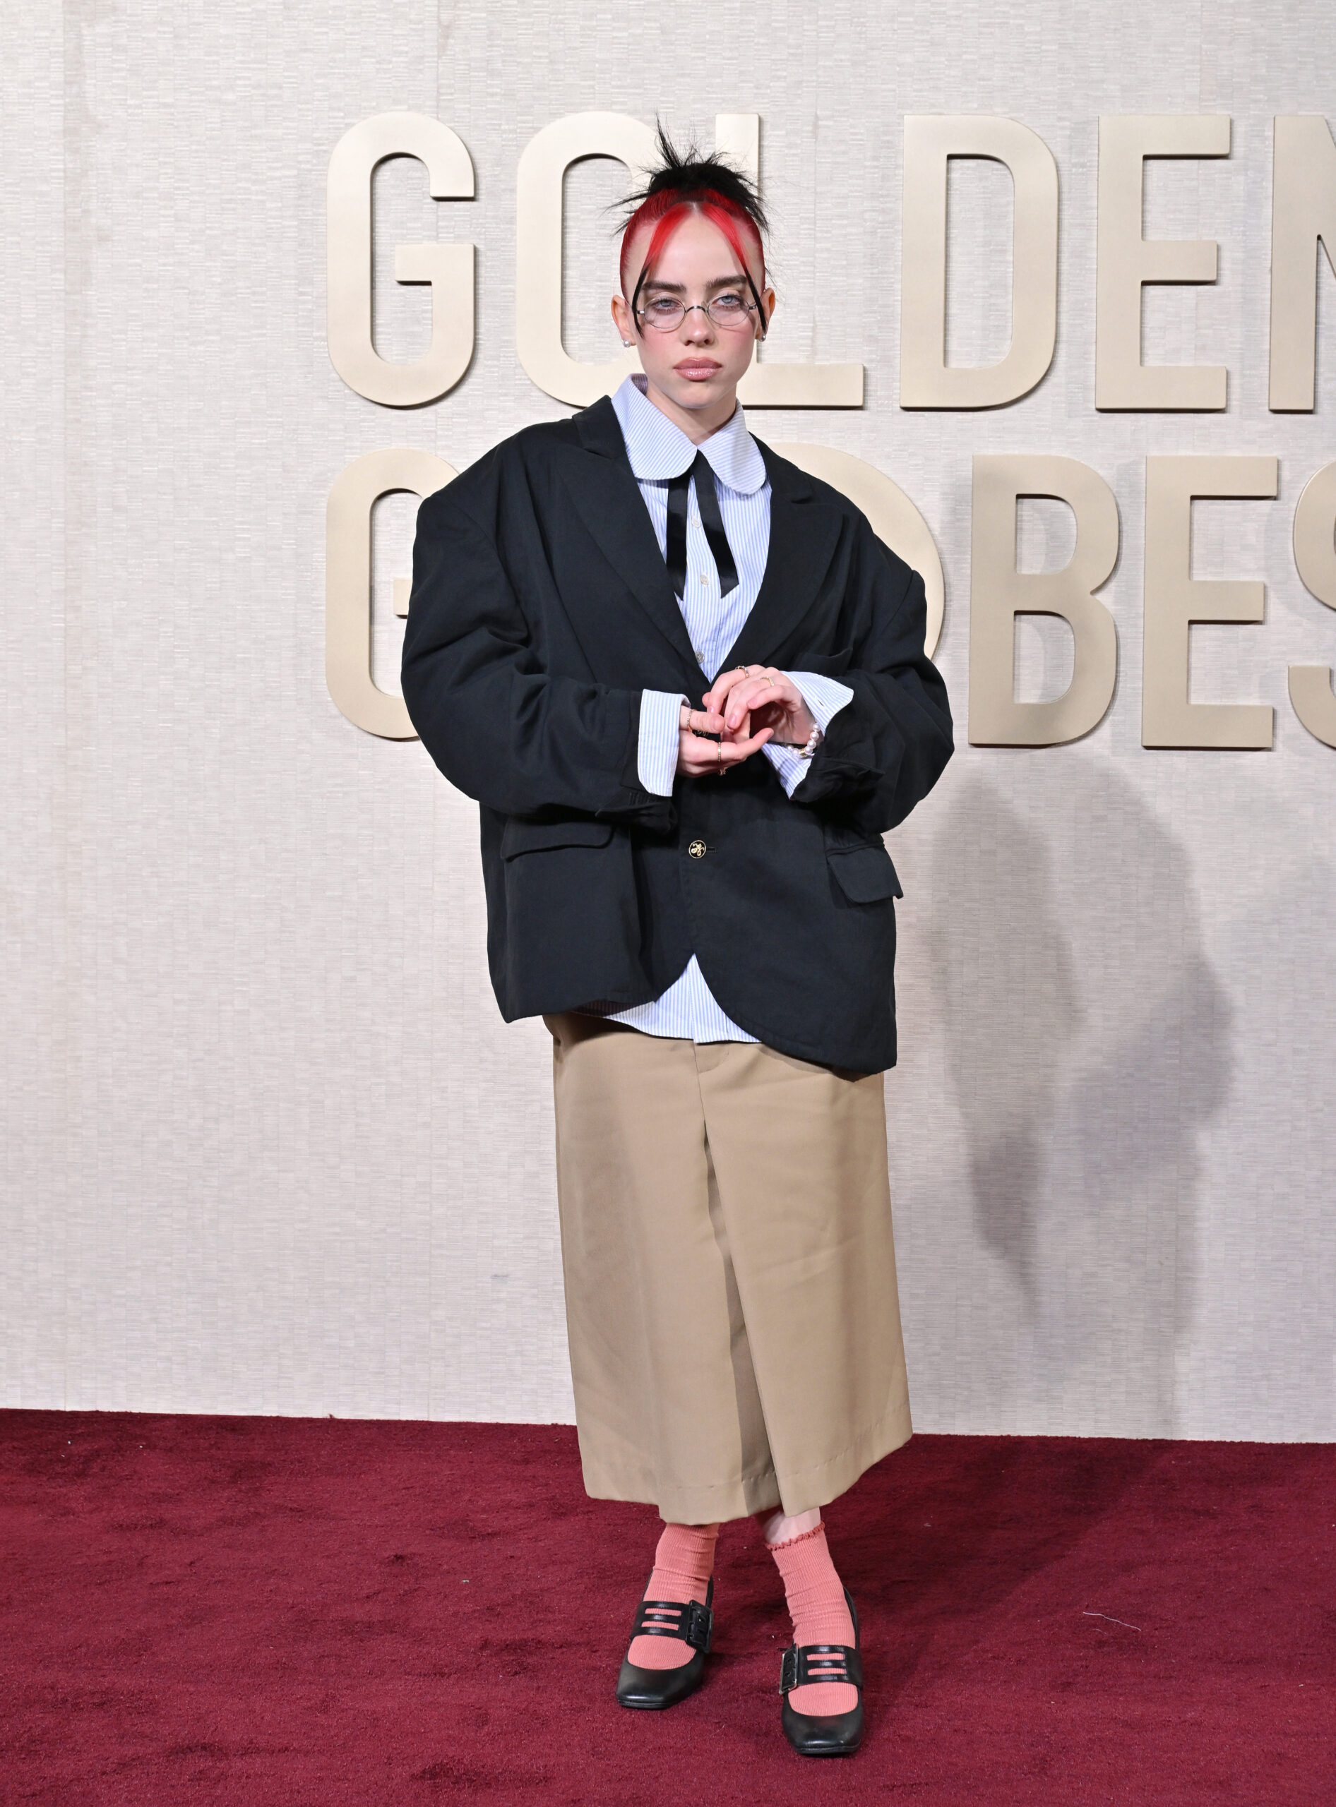
<svg viewBox="0 0 1336 1807">
<path fill-rule="evenodd" d="M 696 484 L 687 497 L 687 587 L 682 596 L 682 618 L 691 634 L 696 661 L 705 676 L 714 678 L 738 640 L 743 622 L 761 589 L 770 551 L 770 479 L 765 473 L 761 450 L 747 432 L 741 407 L 732 419 L 696 446 L 667 414 L 662 414 L 644 394 L 644 376 L 629 376 L 613 396 L 616 419 L 622 425 L 631 470 L 645 499 L 649 519 L 658 535 L 658 549 L 667 551 L 667 488 L 673 477 L 689 470 L 698 452 L 703 452 L 714 472 L 723 531 L 738 566 L 738 587 L 720 595 L 720 576 L 705 540 L 705 529 L 696 502 Z M 832 717 L 853 699 L 848 685 L 817 672 L 786 672 L 803 692 L 803 701 L 824 734 Z M 645 690 L 640 701 L 640 782 L 656 797 L 673 795 L 673 775 L 678 768 L 678 721 L 685 696 L 665 690 Z M 797 746 L 763 746 L 761 752 L 776 768 L 779 782 L 792 797 L 808 772 L 808 761 Z M 756 1041 L 739 1028 L 714 1001 L 705 976 L 692 954 L 682 978 L 662 997 L 631 1010 L 609 1010 L 616 1023 L 647 1035 L 678 1035 L 685 1041 Z"/>
</svg>

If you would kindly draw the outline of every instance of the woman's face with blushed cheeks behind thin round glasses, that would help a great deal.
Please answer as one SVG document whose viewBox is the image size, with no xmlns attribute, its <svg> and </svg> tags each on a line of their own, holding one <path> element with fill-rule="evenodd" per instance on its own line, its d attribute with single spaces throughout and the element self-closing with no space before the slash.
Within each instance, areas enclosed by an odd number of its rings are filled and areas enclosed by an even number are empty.
<svg viewBox="0 0 1336 1807">
<path fill-rule="evenodd" d="M 640 264 L 649 248 L 653 228 L 645 228 L 631 244 L 627 282 L 631 291 L 640 276 Z M 774 289 L 761 289 L 759 258 L 750 271 L 761 293 L 767 323 L 774 311 Z M 701 305 L 692 307 L 680 325 L 660 331 L 653 320 L 656 307 L 671 302 L 703 304 L 738 296 L 739 325 L 716 325 Z M 671 403 L 671 412 L 685 412 L 721 425 L 732 414 L 738 383 L 752 361 L 752 347 L 761 336 L 747 275 L 738 257 L 703 213 L 689 213 L 663 246 L 653 276 L 642 284 L 636 300 L 640 320 L 633 322 L 629 298 L 613 296 L 613 320 L 624 340 L 640 352 L 640 365 L 651 390 Z M 748 311 L 750 309 L 750 311 Z M 721 309 L 723 311 L 723 309 Z M 636 327 L 640 331 L 636 331 Z"/>
</svg>

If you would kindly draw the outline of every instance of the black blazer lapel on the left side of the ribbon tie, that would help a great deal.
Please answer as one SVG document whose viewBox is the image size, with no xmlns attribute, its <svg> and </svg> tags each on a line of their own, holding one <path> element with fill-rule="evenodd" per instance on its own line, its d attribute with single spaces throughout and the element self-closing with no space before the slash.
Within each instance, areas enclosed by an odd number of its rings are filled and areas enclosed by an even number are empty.
<svg viewBox="0 0 1336 1807">
<path fill-rule="evenodd" d="M 575 416 L 575 428 L 580 450 L 562 461 L 562 481 L 575 511 L 654 627 L 694 672 L 698 665 L 687 623 L 631 473 L 613 403 L 604 396 Z"/>
</svg>

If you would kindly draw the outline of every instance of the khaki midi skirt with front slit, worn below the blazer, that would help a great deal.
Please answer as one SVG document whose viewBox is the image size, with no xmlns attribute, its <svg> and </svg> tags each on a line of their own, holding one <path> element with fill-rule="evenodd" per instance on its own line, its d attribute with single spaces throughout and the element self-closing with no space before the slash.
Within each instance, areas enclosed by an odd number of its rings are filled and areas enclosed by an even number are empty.
<svg viewBox="0 0 1336 1807">
<path fill-rule="evenodd" d="M 909 1437 L 882 1075 L 546 1023 L 588 1493 L 694 1525 L 837 1498 Z"/>
</svg>

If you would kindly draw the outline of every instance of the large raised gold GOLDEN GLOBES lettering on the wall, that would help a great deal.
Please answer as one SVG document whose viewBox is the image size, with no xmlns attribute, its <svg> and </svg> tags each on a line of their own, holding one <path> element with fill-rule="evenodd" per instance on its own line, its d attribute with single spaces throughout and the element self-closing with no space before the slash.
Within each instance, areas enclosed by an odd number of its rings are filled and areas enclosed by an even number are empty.
<svg viewBox="0 0 1336 1807">
<path fill-rule="evenodd" d="M 1211 240 L 1143 237 L 1148 157 L 1228 157 L 1224 114 L 1119 116 L 1099 121 L 1096 369 L 1101 412 L 1217 412 L 1229 372 L 1141 361 L 1143 289 L 1213 284 Z M 720 114 L 716 146 L 759 179 L 759 119 Z M 380 114 L 353 126 L 329 159 L 329 356 L 358 396 L 389 408 L 439 401 L 474 356 L 474 246 L 401 244 L 398 282 L 428 284 L 432 336 L 407 363 L 381 358 L 371 332 L 371 179 L 385 157 L 416 157 L 436 199 L 472 199 L 474 164 L 463 139 L 421 114 Z M 633 173 L 653 161 L 653 132 L 626 114 L 555 119 L 524 148 L 517 168 L 515 338 L 519 361 L 544 394 L 588 407 L 611 394 L 633 352 L 582 363 L 562 343 L 562 195 L 582 157 L 616 157 Z M 1012 338 L 994 365 L 946 361 L 947 161 L 989 157 L 1014 183 Z M 1271 412 L 1311 412 L 1316 365 L 1318 249 L 1336 257 L 1336 143 L 1316 116 L 1282 116 L 1273 134 L 1271 190 Z M 1336 264 L 1332 264 L 1336 267 Z M 1058 164 L 1043 139 L 1016 119 L 969 114 L 908 116 L 900 249 L 900 408 L 1000 408 L 1020 401 L 1049 370 L 1058 338 Z M 862 365 L 776 363 L 757 358 L 739 396 L 748 408 L 861 408 Z M 877 533 L 927 585 L 927 649 L 942 629 L 944 576 L 933 535 L 891 479 L 830 446 L 776 446 L 803 470 L 842 490 Z M 356 726 L 412 739 L 403 701 L 371 678 L 371 511 L 396 490 L 430 495 L 456 472 L 407 446 L 369 452 L 336 479 L 327 508 L 325 672 L 329 694 Z M 1143 746 L 1269 748 L 1267 703 L 1193 703 L 1188 638 L 1193 622 L 1262 622 L 1262 582 L 1191 576 L 1195 497 L 1267 499 L 1278 461 L 1264 455 L 1148 457 L 1144 555 Z M 1021 497 L 1054 497 L 1072 510 L 1076 546 L 1061 571 L 1016 569 Z M 1336 609 L 1336 463 L 1303 488 L 1294 510 L 1294 566 L 1307 589 Z M 969 741 L 976 746 L 1058 746 L 1088 734 L 1114 699 L 1117 629 L 1096 591 L 1114 571 L 1119 515 L 1108 482 L 1072 457 L 976 457 L 971 508 Z M 407 614 L 409 584 L 394 584 Z M 1061 616 L 1074 640 L 1072 681 L 1054 701 L 1018 703 L 1018 614 Z M 1303 726 L 1336 746 L 1336 692 L 1325 665 L 1289 667 L 1289 701 Z"/>
</svg>

